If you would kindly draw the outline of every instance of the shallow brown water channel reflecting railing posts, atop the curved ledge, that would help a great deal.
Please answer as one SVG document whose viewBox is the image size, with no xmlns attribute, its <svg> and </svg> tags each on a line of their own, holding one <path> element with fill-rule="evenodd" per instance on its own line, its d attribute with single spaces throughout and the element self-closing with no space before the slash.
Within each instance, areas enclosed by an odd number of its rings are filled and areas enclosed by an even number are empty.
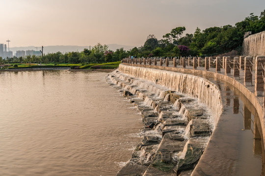
<svg viewBox="0 0 265 176">
<path fill-rule="evenodd" d="M 226 105 L 205 151 L 198 173 L 214 176 L 264 176 L 265 150 L 262 128 L 255 107 L 234 86 L 205 76 L 221 90 Z M 233 104 L 231 101 L 233 99 Z M 218 147 L 217 147 L 218 146 Z M 209 172 L 209 170 L 213 170 Z"/>
</svg>

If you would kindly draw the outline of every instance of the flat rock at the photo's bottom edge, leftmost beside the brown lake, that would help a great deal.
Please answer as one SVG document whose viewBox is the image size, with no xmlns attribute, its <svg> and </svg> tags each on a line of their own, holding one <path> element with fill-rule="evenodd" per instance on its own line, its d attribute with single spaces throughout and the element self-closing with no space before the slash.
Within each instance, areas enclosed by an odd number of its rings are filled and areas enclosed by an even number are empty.
<svg viewBox="0 0 265 176">
<path fill-rule="evenodd" d="M 147 166 L 142 166 L 133 162 L 133 159 L 118 172 L 116 176 L 142 176 L 147 170 Z"/>
</svg>

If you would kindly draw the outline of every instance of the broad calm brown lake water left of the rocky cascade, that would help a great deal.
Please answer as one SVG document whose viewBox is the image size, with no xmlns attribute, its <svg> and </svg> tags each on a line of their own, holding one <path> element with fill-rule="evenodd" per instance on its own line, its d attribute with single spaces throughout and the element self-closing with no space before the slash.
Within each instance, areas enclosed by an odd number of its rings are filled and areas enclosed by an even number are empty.
<svg viewBox="0 0 265 176">
<path fill-rule="evenodd" d="M 106 74 L 0 72 L 0 175 L 116 175 L 142 122 Z"/>
</svg>

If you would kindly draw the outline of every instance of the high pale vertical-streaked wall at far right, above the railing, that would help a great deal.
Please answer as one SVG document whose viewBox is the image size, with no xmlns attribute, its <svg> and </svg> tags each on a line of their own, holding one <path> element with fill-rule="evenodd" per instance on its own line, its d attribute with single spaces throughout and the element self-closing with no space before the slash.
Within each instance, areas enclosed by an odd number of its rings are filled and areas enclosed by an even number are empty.
<svg viewBox="0 0 265 176">
<path fill-rule="evenodd" d="M 253 34 L 244 39 L 244 56 L 264 56 L 265 55 L 265 31 Z"/>
</svg>

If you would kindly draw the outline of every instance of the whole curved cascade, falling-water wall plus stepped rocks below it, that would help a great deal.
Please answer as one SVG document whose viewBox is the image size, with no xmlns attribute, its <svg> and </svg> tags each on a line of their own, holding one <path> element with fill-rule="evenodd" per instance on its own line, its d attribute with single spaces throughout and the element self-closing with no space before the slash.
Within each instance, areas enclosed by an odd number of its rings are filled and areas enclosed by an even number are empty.
<svg viewBox="0 0 265 176">
<path fill-rule="evenodd" d="M 124 65 L 106 81 L 137 107 L 144 124 L 141 143 L 117 176 L 190 175 L 222 113 L 219 89 L 197 76 Z"/>
</svg>

